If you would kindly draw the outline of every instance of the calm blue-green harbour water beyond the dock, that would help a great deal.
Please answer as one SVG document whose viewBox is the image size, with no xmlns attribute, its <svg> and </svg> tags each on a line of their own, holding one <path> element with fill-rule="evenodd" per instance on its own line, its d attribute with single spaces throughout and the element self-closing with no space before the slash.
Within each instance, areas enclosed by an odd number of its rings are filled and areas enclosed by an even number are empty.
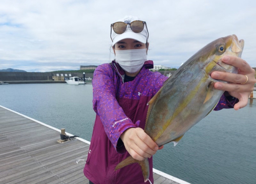
<svg viewBox="0 0 256 184">
<path fill-rule="evenodd" d="M 92 85 L 0 86 L 0 105 L 91 140 Z M 239 111 L 210 113 L 180 143 L 164 145 L 154 168 L 190 183 L 256 183 L 256 99 Z"/>
</svg>

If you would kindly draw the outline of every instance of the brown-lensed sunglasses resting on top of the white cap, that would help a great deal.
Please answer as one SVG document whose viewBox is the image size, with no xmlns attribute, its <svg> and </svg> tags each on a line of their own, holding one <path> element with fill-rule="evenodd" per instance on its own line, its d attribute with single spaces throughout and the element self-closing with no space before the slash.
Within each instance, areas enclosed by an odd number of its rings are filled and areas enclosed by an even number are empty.
<svg viewBox="0 0 256 184">
<path fill-rule="evenodd" d="M 124 23 L 124 22 L 115 22 L 115 23 L 112 23 L 110 25 L 110 38 L 113 42 L 113 39 L 111 37 L 111 34 L 112 34 L 112 28 L 113 28 L 113 31 L 116 33 L 116 34 L 122 34 L 125 32 L 126 28 L 127 28 L 127 25 L 130 25 L 130 28 L 131 30 L 134 32 L 134 33 L 140 33 L 143 31 L 144 29 L 144 25 L 146 25 L 146 22 L 145 21 L 141 21 L 141 20 L 134 20 L 132 21 L 131 23 Z M 146 31 L 147 31 L 147 39 L 148 39 L 148 30 L 147 30 L 147 27 L 146 27 Z"/>
</svg>

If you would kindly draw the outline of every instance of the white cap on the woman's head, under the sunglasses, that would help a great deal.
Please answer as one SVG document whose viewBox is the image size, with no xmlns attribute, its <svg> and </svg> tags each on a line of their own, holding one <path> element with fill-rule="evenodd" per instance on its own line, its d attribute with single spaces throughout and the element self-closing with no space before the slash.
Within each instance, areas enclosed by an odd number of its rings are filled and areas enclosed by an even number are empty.
<svg viewBox="0 0 256 184">
<path fill-rule="evenodd" d="M 124 23 L 131 23 L 134 20 L 140 20 L 138 17 L 135 16 L 125 16 L 122 19 L 117 20 L 117 22 L 124 22 Z M 113 28 L 111 28 L 113 29 Z M 113 43 L 112 46 L 114 46 L 117 42 L 119 42 L 120 40 L 126 39 L 126 38 L 131 38 L 134 40 L 137 40 L 141 43 L 146 43 L 147 42 L 147 30 L 146 30 L 146 26 L 144 25 L 144 29 L 142 30 L 142 32 L 140 33 L 134 33 L 131 30 L 131 27 L 129 25 L 127 25 L 126 30 L 124 33 L 122 34 L 116 34 L 114 31 L 112 31 L 112 39 L 113 39 Z"/>
</svg>

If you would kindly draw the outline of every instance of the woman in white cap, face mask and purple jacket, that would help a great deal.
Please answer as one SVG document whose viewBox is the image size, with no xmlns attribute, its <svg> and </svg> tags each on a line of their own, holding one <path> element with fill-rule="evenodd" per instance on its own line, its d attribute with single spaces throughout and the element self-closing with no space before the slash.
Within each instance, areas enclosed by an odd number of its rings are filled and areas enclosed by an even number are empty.
<svg viewBox="0 0 256 184">
<path fill-rule="evenodd" d="M 93 77 L 93 109 L 96 112 L 96 119 L 84 175 L 90 183 L 95 184 L 144 183 L 138 164 L 131 164 L 115 171 L 118 163 L 132 155 L 140 161 L 150 158 L 149 179 L 153 183 L 152 155 L 159 148 L 143 131 L 146 104 L 161 88 L 167 77 L 149 70 L 153 68 L 153 61 L 146 59 L 146 22 L 137 17 L 126 16 L 111 24 L 111 39 L 115 61 L 98 66 Z M 215 88 L 228 91 L 235 97 L 223 95 L 216 109 L 238 110 L 246 106 L 256 82 L 254 70 L 240 58 L 224 57 L 222 60 L 239 67 L 240 72 L 212 72 L 212 78 L 231 82 L 218 82 Z"/>
</svg>

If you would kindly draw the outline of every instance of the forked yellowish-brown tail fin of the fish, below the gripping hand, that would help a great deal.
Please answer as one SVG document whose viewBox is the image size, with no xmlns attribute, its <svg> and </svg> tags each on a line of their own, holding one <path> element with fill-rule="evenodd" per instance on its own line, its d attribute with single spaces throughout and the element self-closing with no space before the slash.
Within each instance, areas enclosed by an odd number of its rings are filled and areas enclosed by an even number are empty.
<svg viewBox="0 0 256 184">
<path fill-rule="evenodd" d="M 148 177 L 150 176 L 150 163 L 148 162 L 148 159 L 145 159 L 143 161 L 135 160 L 132 156 L 128 156 L 126 159 L 124 159 L 122 162 L 120 162 L 115 170 L 121 169 L 124 166 L 138 163 L 141 167 L 141 171 L 144 177 L 144 181 L 146 182 L 148 180 Z"/>
</svg>

